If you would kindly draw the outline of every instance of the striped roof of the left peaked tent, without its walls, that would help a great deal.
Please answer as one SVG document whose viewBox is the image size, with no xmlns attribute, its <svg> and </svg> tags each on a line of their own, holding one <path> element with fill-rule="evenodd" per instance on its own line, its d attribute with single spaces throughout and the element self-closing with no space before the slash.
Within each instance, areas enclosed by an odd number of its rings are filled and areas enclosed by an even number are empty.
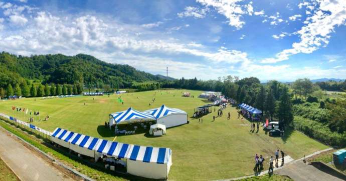
<svg viewBox="0 0 346 181">
<path fill-rule="evenodd" d="M 131 107 L 121 112 L 111 113 L 110 115 L 114 118 L 117 124 L 129 122 L 130 120 L 134 119 L 155 119 L 153 115 L 145 112 L 140 112 L 138 110 L 132 109 Z"/>
</svg>

